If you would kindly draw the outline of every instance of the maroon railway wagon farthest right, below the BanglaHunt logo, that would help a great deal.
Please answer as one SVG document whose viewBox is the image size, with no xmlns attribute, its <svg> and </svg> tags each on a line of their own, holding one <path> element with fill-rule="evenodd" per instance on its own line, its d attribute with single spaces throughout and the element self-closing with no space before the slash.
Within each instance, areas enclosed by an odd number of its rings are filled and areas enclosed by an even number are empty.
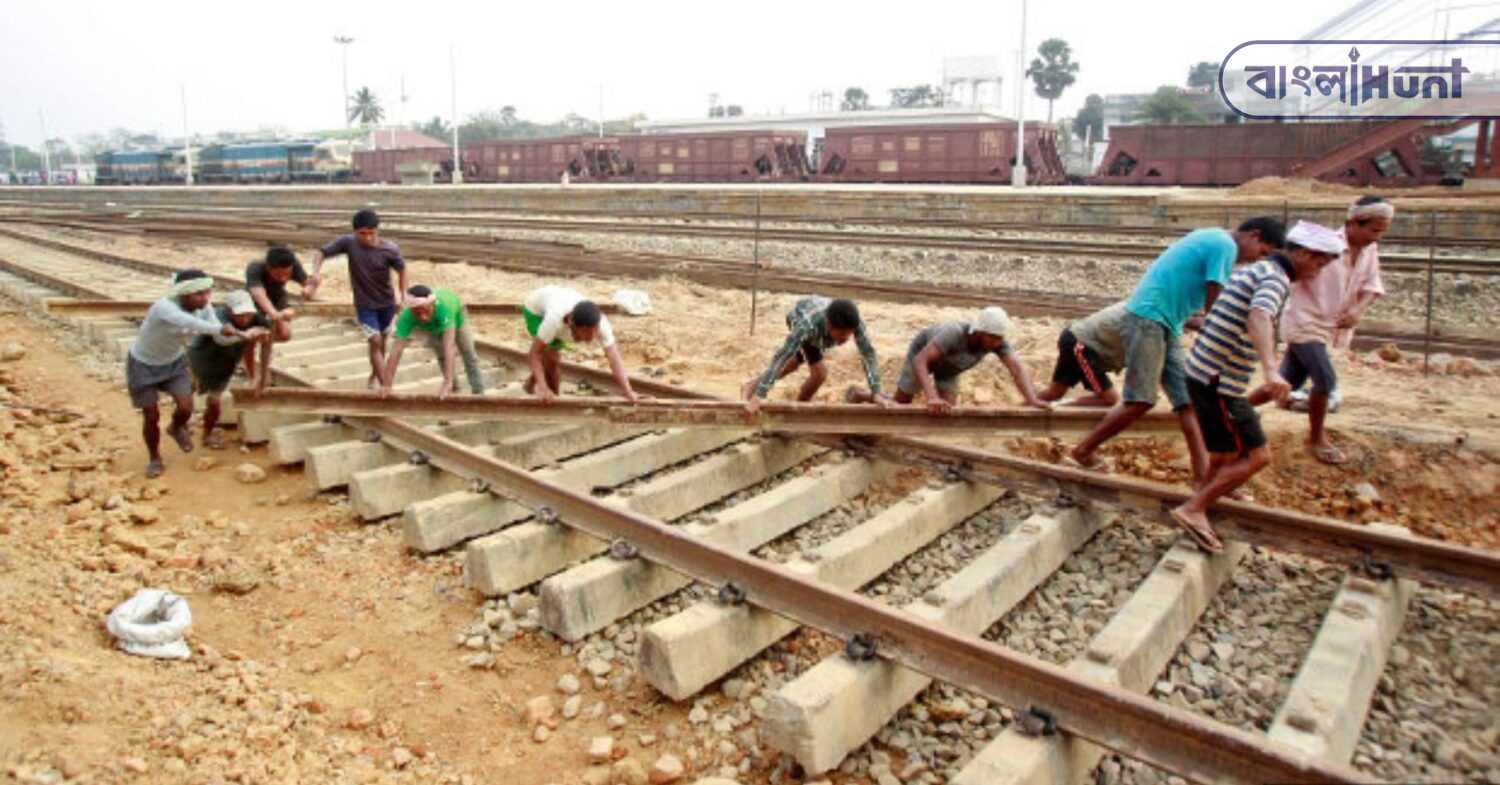
<svg viewBox="0 0 1500 785">
<path fill-rule="evenodd" d="M 1305 177 L 1358 186 L 1431 185 L 1420 122 L 1142 125 L 1110 128 L 1092 185 L 1238 186 L 1257 177 Z"/>
</svg>

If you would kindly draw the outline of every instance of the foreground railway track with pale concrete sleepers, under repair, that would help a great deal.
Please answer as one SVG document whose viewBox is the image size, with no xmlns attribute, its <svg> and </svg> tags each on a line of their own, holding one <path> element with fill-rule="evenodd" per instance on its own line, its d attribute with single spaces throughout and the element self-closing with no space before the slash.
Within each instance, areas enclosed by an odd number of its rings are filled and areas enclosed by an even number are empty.
<svg viewBox="0 0 1500 785">
<path fill-rule="evenodd" d="M 146 270 L 52 249 L 10 260 L 12 270 L 44 266 L 75 296 L 160 288 L 159 276 Z M 9 272 L 0 273 L 0 288 L 32 300 L 57 293 Z M 122 320 L 90 320 L 87 330 L 111 347 L 134 332 Z M 524 374 L 520 353 L 489 342 L 482 351 L 494 363 L 488 375 L 495 383 L 510 387 Z M 348 326 L 298 329 L 298 339 L 279 357 L 279 386 L 332 390 L 363 380 L 354 368 L 363 362 L 363 345 Z M 398 381 L 400 389 L 423 390 L 435 374 L 435 366 L 414 363 Z M 566 375 L 594 387 L 609 378 L 573 365 Z M 702 398 L 645 380 L 636 387 L 662 398 Z M 1138 518 L 1128 510 L 1160 510 L 1149 483 L 920 440 L 831 449 L 819 440 L 747 440 L 692 428 L 642 432 L 604 423 L 432 423 L 392 414 L 324 419 L 262 411 L 242 411 L 240 420 L 246 441 L 267 443 L 276 462 L 302 464 L 310 488 L 346 488 L 356 513 L 369 521 L 399 516 L 412 549 L 465 548 L 466 581 L 476 590 L 498 596 L 536 587 L 540 606 L 528 621 L 574 641 L 592 654 L 591 663 L 608 642 L 622 654 L 616 663 L 639 669 L 663 693 L 699 695 L 700 708 L 714 708 L 705 710 L 711 725 L 738 726 L 732 711 L 702 696 L 704 687 L 730 674 L 776 671 L 756 663 L 784 666 L 794 651 L 816 644 L 796 632 L 798 621 L 854 641 L 843 653 L 834 648 L 786 668 L 784 678 L 766 686 L 765 708 L 754 720 L 772 752 L 789 755 L 810 774 L 840 765 L 882 734 L 936 677 L 996 701 L 978 708 L 981 716 L 999 717 L 1000 704 L 1011 707 L 996 720 L 994 738 L 975 738 L 986 743 L 976 743 L 962 767 L 928 755 L 927 738 L 891 746 L 904 750 L 908 770 L 922 762 L 942 768 L 952 783 L 1076 782 L 1107 749 L 1196 782 L 1368 779 L 1347 762 L 1395 632 L 1412 596 L 1424 591 L 1407 576 L 1455 579 L 1464 573 L 1458 564 L 1470 563 L 1479 572 L 1467 573 L 1462 585 L 1491 596 L 1500 590 L 1500 563 L 1490 554 L 1347 527 L 1356 531 L 1346 536 L 1364 537 L 1356 551 L 1380 543 L 1384 549 L 1365 549 L 1362 570 L 1318 573 L 1329 582 L 1326 615 L 1316 638 L 1304 641 L 1302 665 L 1287 677 L 1284 698 L 1263 701 L 1274 719 L 1262 732 L 1254 723 L 1216 722 L 1206 704 L 1190 711 L 1144 696 L 1167 669 L 1185 657 L 1196 660 L 1182 650 L 1216 596 L 1234 593 L 1248 572 L 1281 563 L 1244 542 L 1208 557 L 1170 536 L 1142 539 Z M 914 477 L 897 464 L 921 471 Z M 1059 486 L 1070 494 L 1058 497 Z M 1004 498 L 1005 488 L 1017 488 L 1024 507 Z M 1250 516 L 1250 525 L 1228 530 L 1232 537 L 1258 528 L 1262 536 L 1280 533 L 1272 539 L 1281 546 L 1310 548 L 1311 539 L 1314 551 L 1332 554 L 1320 549 L 1330 545 L 1320 540 L 1329 536 L 1326 524 L 1293 519 L 1276 528 L 1274 516 L 1244 507 L 1224 512 Z M 862 512 L 850 515 L 852 509 Z M 1142 551 L 1138 569 L 1119 561 L 1122 549 Z M 1128 573 L 1132 587 L 1101 599 L 1090 587 L 1110 555 L 1113 570 Z M 900 578 L 912 575 L 914 564 L 922 566 L 922 578 Z M 700 585 L 692 585 L 694 578 Z M 714 594 L 704 585 L 722 588 Z M 1100 624 L 1076 630 L 1078 639 L 1062 641 L 1066 645 L 1052 659 L 1018 654 L 984 635 L 1036 597 L 1096 602 Z M 1089 617 L 1077 608 L 1052 609 L 1058 612 Z M 603 635 L 621 624 L 639 627 L 640 635 Z M 1275 635 L 1275 620 L 1262 624 L 1260 632 Z M 792 648 L 789 636 L 802 648 Z M 1022 639 L 1035 642 L 1030 635 Z M 1233 654 L 1222 660 L 1227 674 Z M 606 675 L 630 678 L 610 668 L 592 672 L 604 683 Z M 966 705 L 921 710 L 942 711 L 942 722 L 954 728 L 974 728 L 975 708 Z M 1428 714 L 1420 705 L 1408 711 Z M 711 755 L 714 762 L 730 758 Z"/>
</svg>

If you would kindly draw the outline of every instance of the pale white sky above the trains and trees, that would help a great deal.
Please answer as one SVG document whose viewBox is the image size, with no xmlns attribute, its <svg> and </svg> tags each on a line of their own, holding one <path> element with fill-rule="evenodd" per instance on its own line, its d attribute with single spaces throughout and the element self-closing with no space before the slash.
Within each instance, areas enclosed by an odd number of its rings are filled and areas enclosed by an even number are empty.
<svg viewBox="0 0 1500 785">
<path fill-rule="evenodd" d="M 1437 38 L 1500 17 L 1500 2 L 1392 0 L 1378 38 Z M 1353 0 L 1032 0 L 1028 50 L 1072 45 L 1089 93 L 1182 84 L 1188 66 L 1257 38 L 1299 38 Z M 1443 9 L 1450 9 L 1444 14 Z M 1401 17 L 1410 12 L 1412 23 Z M 180 87 L 196 134 L 342 125 L 340 54 L 354 36 L 350 92 L 369 86 L 388 120 L 450 114 L 448 47 L 458 53 L 459 116 L 512 104 L 531 120 L 568 111 L 700 117 L 708 95 L 747 113 L 806 111 L 808 95 L 864 87 L 885 104 L 896 86 L 936 83 L 945 56 L 998 54 L 1012 108 L 1020 0 L 884 3 L 810 0 L 298 2 L 10 0 L 0 27 L 0 122 L 34 146 L 123 126 L 180 135 Z M 410 101 L 402 108 L 405 78 Z M 1028 89 L 1028 117 L 1046 102 Z"/>
</svg>

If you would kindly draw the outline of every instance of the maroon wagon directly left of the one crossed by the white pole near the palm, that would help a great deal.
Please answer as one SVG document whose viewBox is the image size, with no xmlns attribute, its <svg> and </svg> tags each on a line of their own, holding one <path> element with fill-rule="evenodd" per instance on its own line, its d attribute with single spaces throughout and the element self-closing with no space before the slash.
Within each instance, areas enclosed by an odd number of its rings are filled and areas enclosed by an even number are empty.
<svg viewBox="0 0 1500 785">
<path fill-rule="evenodd" d="M 808 179 L 802 131 L 723 131 L 620 137 L 638 183 L 746 183 Z"/>
</svg>

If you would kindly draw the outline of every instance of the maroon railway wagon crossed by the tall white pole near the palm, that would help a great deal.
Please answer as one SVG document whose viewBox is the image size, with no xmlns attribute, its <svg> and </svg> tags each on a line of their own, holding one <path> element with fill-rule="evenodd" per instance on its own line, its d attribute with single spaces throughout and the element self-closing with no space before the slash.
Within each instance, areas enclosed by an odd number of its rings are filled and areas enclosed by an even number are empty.
<svg viewBox="0 0 1500 785">
<path fill-rule="evenodd" d="M 831 128 L 819 180 L 844 183 L 1010 183 L 1016 123 Z M 1026 182 L 1066 180 L 1058 131 L 1026 126 Z"/>
</svg>

